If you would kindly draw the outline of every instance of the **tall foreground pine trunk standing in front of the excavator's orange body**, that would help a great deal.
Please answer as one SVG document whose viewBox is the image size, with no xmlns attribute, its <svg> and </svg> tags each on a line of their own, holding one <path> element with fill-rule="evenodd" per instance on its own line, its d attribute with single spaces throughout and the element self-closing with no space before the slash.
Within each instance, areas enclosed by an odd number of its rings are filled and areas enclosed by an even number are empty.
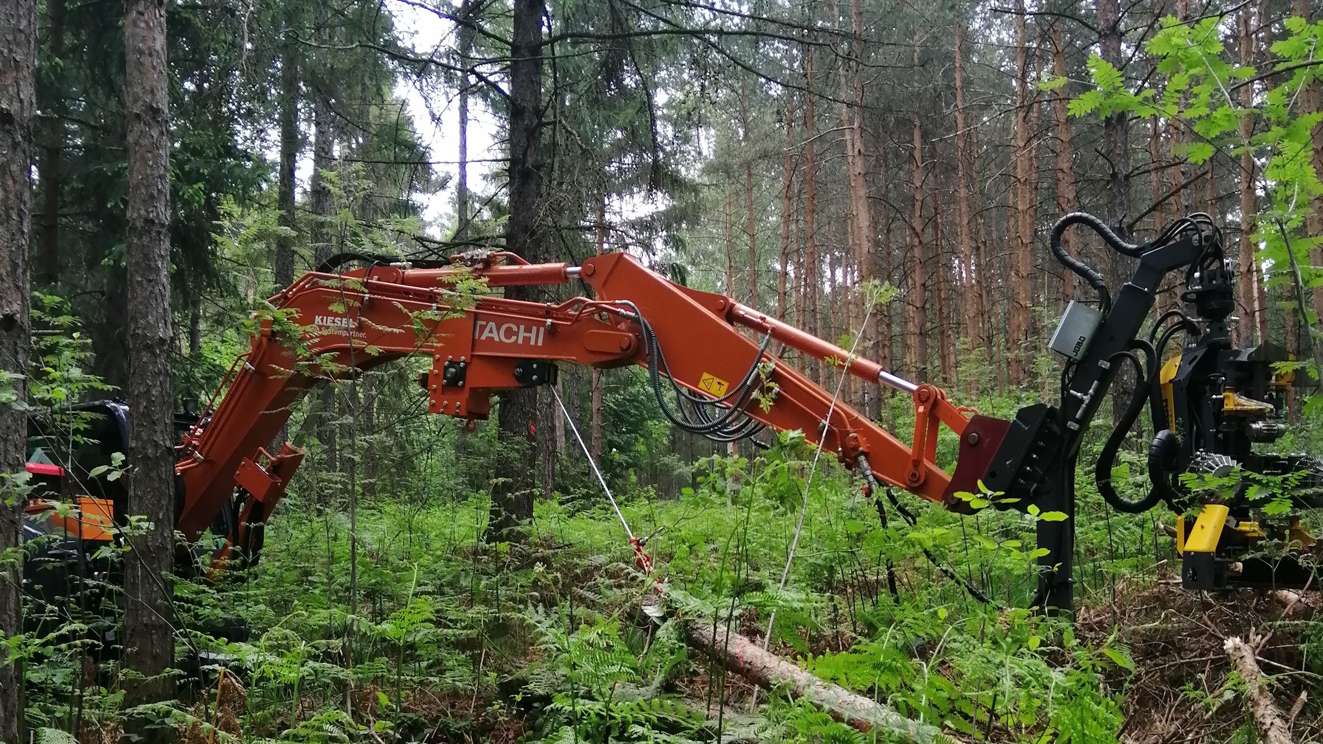
<svg viewBox="0 0 1323 744">
<path fill-rule="evenodd" d="M 164 700 L 175 661 L 175 426 L 171 383 L 169 100 L 164 0 L 124 1 L 124 107 L 128 143 L 128 514 L 151 527 L 124 559 L 124 646 L 147 679 L 130 704 Z M 140 729 L 168 739 L 161 729 Z"/>
</svg>

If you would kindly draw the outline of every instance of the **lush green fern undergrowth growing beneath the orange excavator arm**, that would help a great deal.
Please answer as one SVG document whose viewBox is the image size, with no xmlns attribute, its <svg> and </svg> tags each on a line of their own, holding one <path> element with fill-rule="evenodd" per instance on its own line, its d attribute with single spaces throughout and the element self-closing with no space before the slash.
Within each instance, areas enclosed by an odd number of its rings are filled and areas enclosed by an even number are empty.
<svg viewBox="0 0 1323 744">
<path fill-rule="evenodd" d="M 1090 646 L 1062 622 L 1007 609 L 1032 596 L 1032 518 L 957 517 L 902 496 L 917 526 L 886 503 L 884 530 L 833 464 L 806 506 L 810 459 L 790 441 L 753 461 L 700 461 L 696 488 L 675 498 L 620 494 L 665 588 L 660 622 L 642 612 L 654 584 L 605 498 L 540 501 L 523 540 L 484 544 L 483 494 L 418 507 L 377 494 L 359 503 L 352 564 L 347 515 L 295 497 L 261 567 L 181 588 L 193 628 L 241 624 L 250 637 L 197 630 L 191 642 L 245 681 L 245 740 L 875 739 L 786 690 L 762 691 L 750 714 L 749 686 L 689 649 L 679 620 L 757 637 L 773 613 L 774 651 L 909 718 L 976 739 L 1114 740 L 1125 690 L 1103 679 L 1125 678 L 1125 646 Z M 1086 597 L 1154 575 L 1152 555 L 1130 550 L 1150 529 L 1111 517 L 1113 546 L 1127 550 L 1084 551 Z M 1085 544 L 1099 539 L 1082 531 Z M 214 679 L 218 666 L 201 673 Z"/>
</svg>

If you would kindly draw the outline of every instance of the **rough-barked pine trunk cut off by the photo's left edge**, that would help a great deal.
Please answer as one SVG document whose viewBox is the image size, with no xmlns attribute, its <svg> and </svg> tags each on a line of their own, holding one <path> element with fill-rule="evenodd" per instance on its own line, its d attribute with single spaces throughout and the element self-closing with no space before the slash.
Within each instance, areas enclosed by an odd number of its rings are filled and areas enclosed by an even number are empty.
<svg viewBox="0 0 1323 744">
<path fill-rule="evenodd" d="M 26 400 L 32 227 L 32 119 L 36 107 L 37 0 L 0 0 L 0 370 L 13 375 L 16 400 Z M 19 406 L 0 407 L 0 473 L 21 473 L 28 422 Z M 8 489 L 7 489 L 8 490 Z M 24 500 L 0 500 L 0 550 L 22 544 Z M 0 576 L 0 633 L 22 633 L 20 560 Z M 0 741 L 20 741 L 22 662 L 0 651 Z"/>
</svg>

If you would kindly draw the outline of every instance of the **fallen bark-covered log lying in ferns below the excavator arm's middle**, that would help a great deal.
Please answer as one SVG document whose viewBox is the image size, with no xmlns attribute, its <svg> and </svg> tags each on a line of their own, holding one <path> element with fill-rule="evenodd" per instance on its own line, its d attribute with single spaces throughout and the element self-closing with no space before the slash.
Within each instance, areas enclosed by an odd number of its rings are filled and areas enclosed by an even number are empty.
<svg viewBox="0 0 1323 744">
<path fill-rule="evenodd" d="M 822 708 L 841 723 L 859 731 L 873 728 L 894 731 L 914 741 L 943 740 L 935 727 L 910 720 L 892 708 L 876 703 L 863 695 L 856 695 L 844 687 L 823 682 L 812 673 L 763 650 L 755 641 L 728 633 L 710 622 L 689 621 L 685 624 L 689 645 L 703 653 L 725 661 L 726 669 L 762 687 L 786 685 L 795 698 L 803 698 Z"/>
</svg>

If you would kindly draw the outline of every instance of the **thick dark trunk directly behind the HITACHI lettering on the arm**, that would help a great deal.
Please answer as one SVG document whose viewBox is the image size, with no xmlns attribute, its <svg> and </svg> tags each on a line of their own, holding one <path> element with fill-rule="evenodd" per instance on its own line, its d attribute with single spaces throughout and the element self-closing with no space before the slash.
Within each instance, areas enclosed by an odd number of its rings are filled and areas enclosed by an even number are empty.
<svg viewBox="0 0 1323 744">
<path fill-rule="evenodd" d="M 509 221 L 505 248 L 524 259 L 542 260 L 542 17 L 544 0 L 515 0 L 509 73 Z M 533 300 L 524 287 L 507 287 L 512 300 Z M 512 390 L 500 402 L 497 428 L 508 455 L 496 461 L 488 539 L 512 539 L 516 525 L 533 517 L 533 431 L 537 391 Z"/>
</svg>

